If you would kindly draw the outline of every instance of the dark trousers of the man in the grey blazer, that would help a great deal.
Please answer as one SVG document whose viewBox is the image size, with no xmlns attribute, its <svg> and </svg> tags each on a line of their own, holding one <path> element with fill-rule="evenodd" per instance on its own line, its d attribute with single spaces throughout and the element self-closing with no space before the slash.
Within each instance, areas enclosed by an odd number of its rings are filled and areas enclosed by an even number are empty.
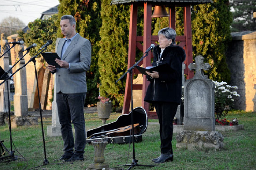
<svg viewBox="0 0 256 170">
<path fill-rule="evenodd" d="M 86 143 L 84 101 L 86 93 L 56 94 L 61 134 L 64 141 L 64 155 L 76 154 L 83 156 Z M 72 132 L 72 124 L 75 129 L 75 143 Z M 75 149 L 75 151 L 74 151 Z"/>
</svg>

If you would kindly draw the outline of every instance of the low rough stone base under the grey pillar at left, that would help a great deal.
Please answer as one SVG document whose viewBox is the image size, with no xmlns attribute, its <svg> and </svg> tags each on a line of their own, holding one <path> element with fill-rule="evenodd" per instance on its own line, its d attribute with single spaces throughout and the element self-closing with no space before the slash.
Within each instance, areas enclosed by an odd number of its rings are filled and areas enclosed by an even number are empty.
<svg viewBox="0 0 256 170">
<path fill-rule="evenodd" d="M 36 117 L 11 117 L 11 127 L 17 128 L 19 126 L 34 126 L 38 125 L 38 119 Z"/>
</svg>

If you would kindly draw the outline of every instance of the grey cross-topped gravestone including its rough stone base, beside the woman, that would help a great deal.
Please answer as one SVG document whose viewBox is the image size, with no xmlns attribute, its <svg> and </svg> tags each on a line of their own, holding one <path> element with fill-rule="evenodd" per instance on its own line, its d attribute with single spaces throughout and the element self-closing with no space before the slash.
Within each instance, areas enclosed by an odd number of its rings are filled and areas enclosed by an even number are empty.
<svg viewBox="0 0 256 170">
<path fill-rule="evenodd" d="M 177 136 L 177 148 L 214 148 L 223 147 L 223 136 L 215 131 L 214 88 L 203 70 L 210 65 L 203 63 L 202 56 L 196 57 L 196 63 L 190 63 L 189 69 L 196 70 L 192 79 L 184 83 L 184 131 Z"/>
</svg>

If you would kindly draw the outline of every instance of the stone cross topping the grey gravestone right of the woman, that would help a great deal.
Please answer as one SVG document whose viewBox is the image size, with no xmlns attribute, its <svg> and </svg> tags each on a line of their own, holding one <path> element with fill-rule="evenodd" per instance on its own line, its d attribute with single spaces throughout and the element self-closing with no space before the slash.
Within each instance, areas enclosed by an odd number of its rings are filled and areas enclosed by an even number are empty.
<svg viewBox="0 0 256 170">
<path fill-rule="evenodd" d="M 203 73 L 203 70 L 209 70 L 209 68 L 211 68 L 210 64 L 203 63 L 204 58 L 201 55 L 198 55 L 195 60 L 196 60 L 196 63 L 190 63 L 188 68 L 190 70 L 196 70 L 195 77 L 206 78 Z"/>
</svg>

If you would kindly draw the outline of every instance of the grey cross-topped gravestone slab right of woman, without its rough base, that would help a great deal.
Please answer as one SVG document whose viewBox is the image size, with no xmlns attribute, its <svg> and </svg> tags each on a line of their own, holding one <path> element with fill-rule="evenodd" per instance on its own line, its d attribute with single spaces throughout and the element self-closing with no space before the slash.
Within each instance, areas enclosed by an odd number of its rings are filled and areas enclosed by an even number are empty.
<svg viewBox="0 0 256 170">
<path fill-rule="evenodd" d="M 184 130 L 215 131 L 215 84 L 204 75 L 203 70 L 208 70 L 210 65 L 203 60 L 197 56 L 196 63 L 188 66 L 196 74 L 184 83 Z"/>
</svg>

